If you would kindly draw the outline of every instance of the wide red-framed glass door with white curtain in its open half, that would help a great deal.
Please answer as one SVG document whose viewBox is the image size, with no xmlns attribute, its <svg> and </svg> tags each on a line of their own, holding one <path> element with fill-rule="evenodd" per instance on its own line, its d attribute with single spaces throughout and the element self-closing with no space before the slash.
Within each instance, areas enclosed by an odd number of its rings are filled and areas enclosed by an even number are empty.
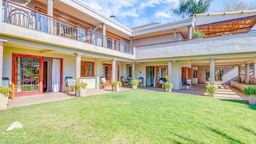
<svg viewBox="0 0 256 144">
<path fill-rule="evenodd" d="M 12 84 L 16 96 L 61 91 L 62 59 L 13 53 Z"/>
</svg>

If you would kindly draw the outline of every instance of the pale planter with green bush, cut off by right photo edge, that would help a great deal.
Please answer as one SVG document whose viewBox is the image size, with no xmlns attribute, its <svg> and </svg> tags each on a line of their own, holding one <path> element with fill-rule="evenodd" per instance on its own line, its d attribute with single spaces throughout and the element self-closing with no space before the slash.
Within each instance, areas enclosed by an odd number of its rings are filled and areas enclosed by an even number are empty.
<svg viewBox="0 0 256 144">
<path fill-rule="evenodd" d="M 256 86 L 246 85 L 244 86 L 244 94 L 248 95 L 250 105 L 256 105 Z"/>
</svg>

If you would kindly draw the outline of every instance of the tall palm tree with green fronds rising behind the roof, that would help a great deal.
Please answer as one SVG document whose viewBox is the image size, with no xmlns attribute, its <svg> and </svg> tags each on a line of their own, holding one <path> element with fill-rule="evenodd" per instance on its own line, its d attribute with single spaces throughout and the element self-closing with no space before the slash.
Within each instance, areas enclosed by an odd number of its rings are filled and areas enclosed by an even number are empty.
<svg viewBox="0 0 256 144">
<path fill-rule="evenodd" d="M 209 10 L 212 0 L 180 0 L 179 6 L 175 9 L 169 9 L 167 12 L 172 12 L 181 18 L 193 17 L 193 14 L 205 13 Z"/>
</svg>

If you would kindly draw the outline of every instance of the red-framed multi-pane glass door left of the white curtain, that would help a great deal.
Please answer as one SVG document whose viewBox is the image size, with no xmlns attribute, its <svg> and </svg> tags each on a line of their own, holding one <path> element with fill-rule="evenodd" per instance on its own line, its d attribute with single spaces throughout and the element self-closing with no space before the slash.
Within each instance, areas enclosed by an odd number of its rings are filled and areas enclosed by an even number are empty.
<svg viewBox="0 0 256 144">
<path fill-rule="evenodd" d="M 43 58 L 38 55 L 12 54 L 12 84 L 15 96 L 43 93 Z M 60 90 L 62 90 L 62 59 L 60 65 Z"/>
</svg>

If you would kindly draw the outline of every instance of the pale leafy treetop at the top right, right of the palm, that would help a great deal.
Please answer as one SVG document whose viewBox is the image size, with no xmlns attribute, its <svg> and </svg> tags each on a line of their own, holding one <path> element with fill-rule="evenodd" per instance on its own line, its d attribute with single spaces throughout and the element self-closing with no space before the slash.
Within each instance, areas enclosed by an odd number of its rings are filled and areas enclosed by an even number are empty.
<svg viewBox="0 0 256 144">
<path fill-rule="evenodd" d="M 225 3 L 223 7 L 225 12 L 256 10 L 256 3 L 245 3 L 245 1 L 233 0 L 229 3 Z"/>
</svg>

